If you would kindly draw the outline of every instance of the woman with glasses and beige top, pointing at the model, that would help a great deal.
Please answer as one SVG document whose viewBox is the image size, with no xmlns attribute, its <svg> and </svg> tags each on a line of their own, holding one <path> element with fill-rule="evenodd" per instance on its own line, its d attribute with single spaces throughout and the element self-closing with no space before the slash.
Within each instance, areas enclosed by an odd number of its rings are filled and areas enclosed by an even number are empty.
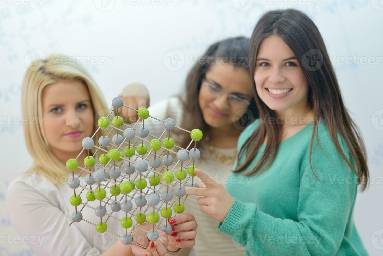
<svg viewBox="0 0 383 256">
<path fill-rule="evenodd" d="M 203 139 L 197 144 L 201 158 L 196 163 L 198 168 L 208 171 L 211 177 L 225 186 L 228 175 L 232 170 L 236 157 L 236 145 L 239 135 L 258 112 L 254 102 L 252 78 L 248 65 L 249 39 L 245 37 L 229 38 L 211 45 L 200 56 L 197 63 L 188 73 L 185 92 L 179 96 L 158 102 L 149 107 L 151 116 L 164 120 L 173 118 L 176 126 L 187 130 L 201 129 Z M 148 107 L 149 94 L 144 85 L 130 84 L 123 94 L 129 95 L 127 104 L 136 109 Z M 131 122 L 136 118 L 136 112 L 122 109 L 123 116 L 128 116 Z M 126 111 L 126 112 L 124 112 Z M 126 120 L 129 122 L 129 120 Z M 145 121 L 145 127 L 150 134 L 160 136 L 162 126 Z M 190 134 L 172 131 L 172 138 L 177 145 L 186 148 L 190 143 Z M 197 177 L 195 177 L 196 180 Z M 179 255 L 243 255 L 241 245 L 217 231 L 218 221 L 201 213 L 195 197 L 185 201 L 185 212 L 195 216 L 198 223 L 198 235 L 193 249 L 185 248 L 188 244 L 187 235 L 173 230 L 174 240 L 180 239 L 179 244 L 169 240 L 169 246 L 179 246 Z M 189 227 L 190 230 L 193 227 Z"/>
</svg>

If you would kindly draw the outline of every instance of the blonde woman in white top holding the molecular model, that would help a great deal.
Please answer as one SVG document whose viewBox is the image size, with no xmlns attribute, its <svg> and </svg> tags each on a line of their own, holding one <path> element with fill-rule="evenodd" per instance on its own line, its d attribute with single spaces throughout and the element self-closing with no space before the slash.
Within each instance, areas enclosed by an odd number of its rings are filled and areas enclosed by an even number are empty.
<svg viewBox="0 0 383 256">
<path fill-rule="evenodd" d="M 13 226 L 22 236 L 40 239 L 39 244 L 29 243 L 38 255 L 99 255 L 102 251 L 105 251 L 103 255 L 164 255 L 167 250 L 176 251 L 175 245 L 167 246 L 167 235 L 161 230 L 163 239 L 155 241 L 156 250 L 149 252 L 134 244 L 124 245 L 118 236 L 109 233 L 100 241 L 100 233 L 85 221 L 69 226 L 74 211 L 69 198 L 74 191 L 67 184 L 69 175 L 65 175 L 65 162 L 80 154 L 82 140 L 96 130 L 95 113 L 107 106 L 87 71 L 78 64 L 55 62 L 61 58 L 67 57 L 51 55 L 33 61 L 24 77 L 23 116 L 39 117 L 43 122 L 24 126 L 26 146 L 34 162 L 26 173 L 10 183 L 7 190 L 7 210 Z M 98 131 L 94 140 L 97 142 L 100 136 L 102 133 Z M 94 153 L 91 149 L 90 154 Z M 99 150 L 95 159 L 101 153 Z M 83 159 L 87 155 L 86 150 L 80 154 L 80 167 L 84 167 Z M 93 168 L 92 172 L 95 171 Z M 86 174 L 83 172 L 79 176 L 80 172 L 75 171 L 79 178 Z M 75 189 L 76 194 L 80 189 Z M 96 208 L 97 202 L 89 201 L 88 205 Z M 83 208 L 82 214 L 93 223 L 100 221 L 89 207 Z M 113 215 L 122 218 L 125 213 L 119 211 Z M 182 215 L 174 219 L 181 222 L 179 218 Z M 190 222 L 196 226 L 195 221 Z M 111 220 L 107 225 L 108 230 L 116 234 L 124 231 L 119 221 Z M 149 230 L 149 225 L 144 224 L 142 228 Z"/>
</svg>

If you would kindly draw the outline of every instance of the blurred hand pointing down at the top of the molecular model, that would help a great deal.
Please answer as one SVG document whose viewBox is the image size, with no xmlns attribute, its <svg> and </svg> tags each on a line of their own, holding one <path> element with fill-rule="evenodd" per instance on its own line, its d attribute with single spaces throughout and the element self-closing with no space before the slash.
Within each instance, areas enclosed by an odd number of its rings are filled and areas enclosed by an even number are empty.
<svg viewBox="0 0 383 256">
<path fill-rule="evenodd" d="M 141 83 L 129 84 L 119 94 L 119 97 L 123 99 L 124 105 L 137 110 L 142 107 L 147 108 L 150 104 L 149 92 L 144 84 Z M 123 117 L 126 123 L 135 122 L 138 119 L 137 112 L 127 107 L 120 107 L 118 113 Z"/>
</svg>

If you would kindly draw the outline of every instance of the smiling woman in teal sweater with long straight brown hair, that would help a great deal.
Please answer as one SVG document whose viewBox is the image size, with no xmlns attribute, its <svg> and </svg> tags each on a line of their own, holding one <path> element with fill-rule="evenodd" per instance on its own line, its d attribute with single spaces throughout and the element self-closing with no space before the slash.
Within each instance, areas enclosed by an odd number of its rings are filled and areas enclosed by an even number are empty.
<svg viewBox="0 0 383 256">
<path fill-rule="evenodd" d="M 238 141 L 222 185 L 199 169 L 200 210 L 246 255 L 366 255 L 352 220 L 365 147 L 322 37 L 297 10 L 266 13 L 250 41 L 260 119 Z"/>
</svg>

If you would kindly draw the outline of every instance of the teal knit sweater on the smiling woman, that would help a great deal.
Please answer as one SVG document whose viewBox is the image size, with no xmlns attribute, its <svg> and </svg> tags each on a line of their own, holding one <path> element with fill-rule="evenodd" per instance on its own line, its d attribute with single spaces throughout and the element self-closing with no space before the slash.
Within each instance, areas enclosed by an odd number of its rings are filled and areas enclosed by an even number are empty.
<svg viewBox="0 0 383 256">
<path fill-rule="evenodd" d="M 242 132 L 238 150 L 259 123 Z M 311 155 L 320 181 L 315 178 L 309 164 L 313 127 L 310 123 L 282 141 L 272 165 L 261 175 L 229 175 L 226 189 L 234 203 L 218 230 L 242 244 L 246 255 L 367 255 L 352 220 L 357 177 L 320 119 Z M 356 168 L 340 135 L 338 139 Z M 251 166 L 264 149 L 262 145 Z"/>
</svg>

